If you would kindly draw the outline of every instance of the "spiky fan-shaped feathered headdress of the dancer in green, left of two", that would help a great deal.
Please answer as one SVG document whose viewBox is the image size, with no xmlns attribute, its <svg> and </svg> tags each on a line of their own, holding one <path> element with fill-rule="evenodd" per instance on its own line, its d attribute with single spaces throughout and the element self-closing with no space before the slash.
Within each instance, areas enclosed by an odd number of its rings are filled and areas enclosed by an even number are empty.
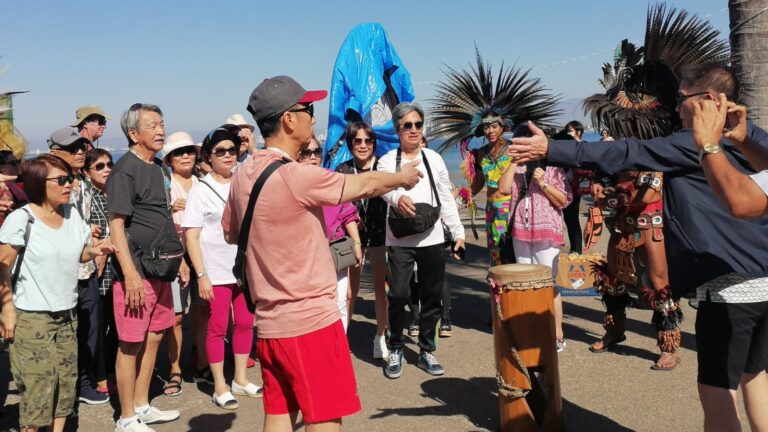
<svg viewBox="0 0 768 432">
<path fill-rule="evenodd" d="M 559 96 L 550 94 L 538 78 L 531 78 L 530 70 L 502 64 L 494 80 L 477 47 L 475 54 L 476 64 L 469 71 L 447 67 L 447 79 L 437 84 L 437 95 L 431 100 L 432 136 L 445 138 L 437 149 L 441 153 L 482 136 L 481 120 L 488 113 L 498 115 L 506 127 L 527 120 L 550 126 L 560 113 L 556 109 Z"/>
</svg>

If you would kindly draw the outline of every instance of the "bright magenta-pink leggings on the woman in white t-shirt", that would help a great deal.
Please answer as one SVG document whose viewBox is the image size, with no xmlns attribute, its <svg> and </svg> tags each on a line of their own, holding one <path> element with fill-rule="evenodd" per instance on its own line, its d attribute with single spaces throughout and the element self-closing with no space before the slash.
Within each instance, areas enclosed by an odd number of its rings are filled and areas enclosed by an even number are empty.
<svg viewBox="0 0 768 432">
<path fill-rule="evenodd" d="M 208 333 L 205 338 L 209 363 L 224 361 L 224 337 L 229 327 L 229 307 L 235 312 L 235 328 L 232 330 L 232 352 L 249 354 L 253 342 L 253 314 L 248 312 L 245 298 L 235 284 L 214 285 L 214 299 L 210 302 Z"/>
</svg>

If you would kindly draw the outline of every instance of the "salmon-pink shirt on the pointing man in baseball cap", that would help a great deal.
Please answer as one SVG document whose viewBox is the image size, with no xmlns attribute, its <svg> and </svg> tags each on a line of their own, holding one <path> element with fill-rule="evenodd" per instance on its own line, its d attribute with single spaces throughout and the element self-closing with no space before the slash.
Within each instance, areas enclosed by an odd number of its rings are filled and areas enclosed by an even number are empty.
<svg viewBox="0 0 768 432">
<path fill-rule="evenodd" d="M 239 235 L 253 184 L 279 158 L 260 150 L 235 171 L 221 220 L 233 238 Z M 300 336 L 341 318 L 322 207 L 338 204 L 343 189 L 343 174 L 296 162 L 278 168 L 264 184 L 253 212 L 246 264 L 259 337 Z"/>
</svg>

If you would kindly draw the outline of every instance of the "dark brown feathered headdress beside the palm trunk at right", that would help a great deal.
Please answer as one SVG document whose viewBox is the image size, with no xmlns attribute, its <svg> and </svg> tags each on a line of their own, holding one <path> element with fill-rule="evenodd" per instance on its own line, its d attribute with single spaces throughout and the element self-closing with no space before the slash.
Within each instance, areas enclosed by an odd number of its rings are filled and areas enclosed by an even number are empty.
<svg viewBox="0 0 768 432">
<path fill-rule="evenodd" d="M 650 6 L 645 44 L 626 39 L 616 48 L 614 64 L 603 65 L 604 94 L 584 99 L 584 113 L 597 128 L 616 137 L 641 139 L 669 135 L 681 127 L 675 112 L 683 66 L 726 65 L 728 44 L 708 22 L 660 3 Z"/>
</svg>

